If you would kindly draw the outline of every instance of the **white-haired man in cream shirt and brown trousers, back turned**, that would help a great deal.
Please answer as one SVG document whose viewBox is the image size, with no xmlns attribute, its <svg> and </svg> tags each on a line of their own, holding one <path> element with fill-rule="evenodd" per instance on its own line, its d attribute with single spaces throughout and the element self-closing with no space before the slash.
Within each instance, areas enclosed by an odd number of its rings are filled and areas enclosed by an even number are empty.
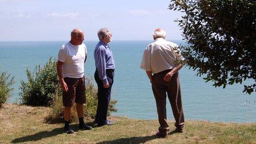
<svg viewBox="0 0 256 144">
<path fill-rule="evenodd" d="M 166 32 L 160 28 L 153 33 L 154 42 L 143 53 L 141 68 L 146 71 L 157 104 L 159 128 L 157 136 L 166 137 L 169 131 L 166 116 L 166 93 L 175 119 L 177 132 L 183 132 L 184 114 L 178 71 L 183 66 L 183 57 L 178 45 L 164 40 Z M 153 76 L 152 76 L 153 74 Z"/>
</svg>

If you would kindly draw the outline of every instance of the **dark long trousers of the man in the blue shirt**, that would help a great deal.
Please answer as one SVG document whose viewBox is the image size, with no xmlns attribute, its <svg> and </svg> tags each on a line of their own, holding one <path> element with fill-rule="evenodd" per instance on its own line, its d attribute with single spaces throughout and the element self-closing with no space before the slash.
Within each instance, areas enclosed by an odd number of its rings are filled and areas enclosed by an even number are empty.
<svg viewBox="0 0 256 144">
<path fill-rule="evenodd" d="M 104 88 L 103 81 L 99 79 L 98 71 L 96 70 L 94 73 L 95 81 L 98 85 L 98 106 L 97 113 L 95 115 L 95 122 L 98 125 L 106 124 L 106 116 L 108 115 L 108 106 L 111 97 L 111 88 L 114 83 L 114 70 L 106 70 L 106 77 L 108 79 L 109 87 Z"/>
</svg>

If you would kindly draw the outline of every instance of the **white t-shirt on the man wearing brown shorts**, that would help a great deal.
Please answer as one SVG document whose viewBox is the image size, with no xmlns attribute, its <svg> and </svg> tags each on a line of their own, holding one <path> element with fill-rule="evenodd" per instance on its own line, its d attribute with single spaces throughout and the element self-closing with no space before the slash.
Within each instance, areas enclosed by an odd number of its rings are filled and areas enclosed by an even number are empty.
<svg viewBox="0 0 256 144">
<path fill-rule="evenodd" d="M 62 45 L 58 51 L 58 61 L 64 62 L 63 77 L 81 78 L 84 76 L 84 60 L 87 56 L 86 45 L 73 45 L 71 42 Z"/>
</svg>

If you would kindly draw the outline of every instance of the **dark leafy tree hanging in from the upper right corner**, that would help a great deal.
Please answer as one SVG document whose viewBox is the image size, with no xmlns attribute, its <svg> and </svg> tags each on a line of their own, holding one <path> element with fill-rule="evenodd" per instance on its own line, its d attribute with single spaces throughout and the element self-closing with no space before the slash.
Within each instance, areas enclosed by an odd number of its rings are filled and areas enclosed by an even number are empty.
<svg viewBox="0 0 256 144">
<path fill-rule="evenodd" d="M 169 9 L 185 13 L 175 22 L 188 43 L 181 47 L 186 65 L 215 87 L 253 79 L 243 92 L 256 91 L 254 0 L 172 0 Z"/>
</svg>

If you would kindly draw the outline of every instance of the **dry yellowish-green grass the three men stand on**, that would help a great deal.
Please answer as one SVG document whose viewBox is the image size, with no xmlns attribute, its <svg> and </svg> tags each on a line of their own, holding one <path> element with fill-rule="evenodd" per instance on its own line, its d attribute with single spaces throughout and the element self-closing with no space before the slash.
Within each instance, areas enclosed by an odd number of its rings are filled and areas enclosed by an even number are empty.
<svg viewBox="0 0 256 144">
<path fill-rule="evenodd" d="M 63 132 L 63 124 L 47 124 L 51 108 L 4 104 L 0 109 L 0 143 L 256 143 L 256 124 L 236 124 L 209 121 L 185 121 L 185 132 L 175 133 L 170 120 L 170 134 L 155 136 L 157 120 L 136 120 L 111 117 L 115 125 L 79 131 Z M 91 121 L 87 120 L 89 125 Z"/>
</svg>

